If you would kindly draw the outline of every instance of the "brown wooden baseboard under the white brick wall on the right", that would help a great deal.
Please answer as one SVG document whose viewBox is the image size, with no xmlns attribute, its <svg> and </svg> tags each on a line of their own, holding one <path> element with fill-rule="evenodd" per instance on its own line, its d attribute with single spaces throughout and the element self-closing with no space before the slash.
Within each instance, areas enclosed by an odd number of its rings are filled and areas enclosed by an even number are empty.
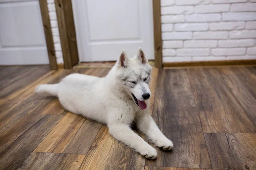
<svg viewBox="0 0 256 170">
<path fill-rule="evenodd" d="M 196 67 L 196 66 L 224 66 L 224 65 L 256 65 L 256 59 L 201 61 L 201 62 L 164 62 L 163 63 L 163 67 Z"/>
</svg>

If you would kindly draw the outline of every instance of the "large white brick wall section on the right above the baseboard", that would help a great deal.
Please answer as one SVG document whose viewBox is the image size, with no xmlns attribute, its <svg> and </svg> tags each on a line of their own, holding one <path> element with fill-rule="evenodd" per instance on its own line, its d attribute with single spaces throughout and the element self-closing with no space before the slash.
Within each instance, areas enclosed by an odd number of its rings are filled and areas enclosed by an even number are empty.
<svg viewBox="0 0 256 170">
<path fill-rule="evenodd" d="M 163 62 L 256 59 L 256 0 L 161 0 Z"/>
</svg>

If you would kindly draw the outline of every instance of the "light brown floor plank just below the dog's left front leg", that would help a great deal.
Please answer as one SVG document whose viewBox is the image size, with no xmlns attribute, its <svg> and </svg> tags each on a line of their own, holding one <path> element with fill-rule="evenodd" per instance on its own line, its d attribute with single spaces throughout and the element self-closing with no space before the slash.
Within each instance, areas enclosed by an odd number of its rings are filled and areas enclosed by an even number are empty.
<svg viewBox="0 0 256 170">
<path fill-rule="evenodd" d="M 102 159 L 104 158 L 104 159 Z M 136 169 L 143 170 L 145 159 L 125 144 L 116 141 L 109 133 L 108 127 L 102 126 L 80 169 L 110 170 Z"/>
</svg>

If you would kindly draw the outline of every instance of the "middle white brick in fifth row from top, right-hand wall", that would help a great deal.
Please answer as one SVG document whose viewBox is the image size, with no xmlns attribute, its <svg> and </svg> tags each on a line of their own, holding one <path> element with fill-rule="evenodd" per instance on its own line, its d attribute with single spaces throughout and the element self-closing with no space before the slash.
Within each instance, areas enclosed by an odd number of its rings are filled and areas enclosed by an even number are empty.
<svg viewBox="0 0 256 170">
<path fill-rule="evenodd" d="M 195 40 L 220 40 L 227 39 L 227 31 L 205 31 L 205 32 L 194 32 Z"/>
</svg>

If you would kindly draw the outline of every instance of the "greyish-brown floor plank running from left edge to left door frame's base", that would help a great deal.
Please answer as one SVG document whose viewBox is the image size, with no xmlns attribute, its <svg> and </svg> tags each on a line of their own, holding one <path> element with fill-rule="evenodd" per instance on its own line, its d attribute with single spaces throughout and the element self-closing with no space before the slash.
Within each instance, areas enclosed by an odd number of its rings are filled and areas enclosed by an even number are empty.
<svg viewBox="0 0 256 170">
<path fill-rule="evenodd" d="M 1 80 L 0 99 L 3 99 L 13 92 L 26 87 L 48 71 L 48 65 L 23 67 L 22 70 L 12 74 L 10 77 L 6 77 L 6 79 L 4 79 L 5 81 Z"/>
</svg>

